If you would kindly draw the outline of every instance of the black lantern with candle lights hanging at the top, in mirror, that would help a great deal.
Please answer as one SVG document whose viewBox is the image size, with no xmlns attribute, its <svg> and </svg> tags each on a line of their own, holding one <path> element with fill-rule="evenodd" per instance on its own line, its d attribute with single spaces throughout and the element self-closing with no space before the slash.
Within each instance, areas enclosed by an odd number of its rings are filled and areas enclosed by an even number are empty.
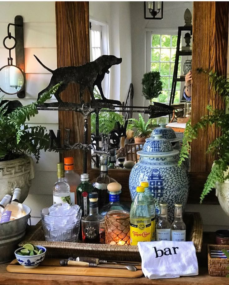
<svg viewBox="0 0 229 285">
<path fill-rule="evenodd" d="M 163 19 L 163 1 L 144 2 L 144 18 L 147 20 Z"/>
</svg>

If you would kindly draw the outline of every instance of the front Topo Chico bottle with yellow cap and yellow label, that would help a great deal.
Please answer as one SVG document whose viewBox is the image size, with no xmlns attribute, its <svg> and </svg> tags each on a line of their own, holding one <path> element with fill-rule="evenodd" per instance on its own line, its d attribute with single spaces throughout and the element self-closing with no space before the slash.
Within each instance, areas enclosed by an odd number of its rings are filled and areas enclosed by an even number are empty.
<svg viewBox="0 0 229 285">
<path fill-rule="evenodd" d="M 138 241 L 151 241 L 151 210 L 145 189 L 138 186 L 136 196 L 130 207 L 130 244 Z"/>
</svg>

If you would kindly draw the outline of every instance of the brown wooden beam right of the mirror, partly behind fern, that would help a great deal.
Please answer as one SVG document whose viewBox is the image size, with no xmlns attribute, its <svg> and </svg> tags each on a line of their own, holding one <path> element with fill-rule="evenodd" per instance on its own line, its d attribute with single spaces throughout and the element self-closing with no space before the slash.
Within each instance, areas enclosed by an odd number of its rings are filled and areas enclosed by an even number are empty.
<svg viewBox="0 0 229 285">
<path fill-rule="evenodd" d="M 215 95 L 210 89 L 208 75 L 199 74 L 197 68 L 227 74 L 228 8 L 228 2 L 194 2 L 192 124 L 208 114 L 207 105 L 225 108 L 222 97 Z M 210 172 L 215 156 L 206 154 L 206 151 L 209 143 L 218 136 L 219 129 L 214 125 L 199 131 L 198 138 L 192 142 L 191 172 Z"/>
</svg>

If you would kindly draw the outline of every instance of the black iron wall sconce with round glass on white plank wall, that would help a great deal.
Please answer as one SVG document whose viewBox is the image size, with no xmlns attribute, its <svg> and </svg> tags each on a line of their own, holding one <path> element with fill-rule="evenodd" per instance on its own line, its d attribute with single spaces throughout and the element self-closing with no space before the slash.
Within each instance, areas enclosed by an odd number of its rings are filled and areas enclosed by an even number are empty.
<svg viewBox="0 0 229 285">
<path fill-rule="evenodd" d="M 15 36 L 10 33 L 10 26 L 15 28 Z M 6 40 L 13 40 L 14 44 L 7 47 Z M 7 26 L 7 36 L 3 39 L 3 46 L 9 50 L 8 64 L 0 68 L 0 91 L 8 95 L 17 94 L 18 98 L 25 97 L 25 61 L 24 61 L 24 35 L 23 35 L 23 18 L 16 16 L 14 24 L 9 23 Z M 11 51 L 15 48 L 15 62 L 11 57 Z"/>
</svg>

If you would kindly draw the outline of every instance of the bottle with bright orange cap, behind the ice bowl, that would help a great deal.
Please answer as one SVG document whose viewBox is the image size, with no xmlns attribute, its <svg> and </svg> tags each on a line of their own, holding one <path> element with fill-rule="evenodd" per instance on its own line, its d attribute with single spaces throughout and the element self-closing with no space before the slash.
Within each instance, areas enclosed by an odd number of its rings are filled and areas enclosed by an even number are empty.
<svg viewBox="0 0 229 285">
<path fill-rule="evenodd" d="M 77 204 L 77 194 L 76 189 L 77 186 L 81 183 L 80 175 L 74 172 L 74 159 L 73 157 L 65 157 L 64 158 L 64 177 L 65 181 L 70 186 L 70 198 L 71 198 L 71 205 Z"/>
</svg>

